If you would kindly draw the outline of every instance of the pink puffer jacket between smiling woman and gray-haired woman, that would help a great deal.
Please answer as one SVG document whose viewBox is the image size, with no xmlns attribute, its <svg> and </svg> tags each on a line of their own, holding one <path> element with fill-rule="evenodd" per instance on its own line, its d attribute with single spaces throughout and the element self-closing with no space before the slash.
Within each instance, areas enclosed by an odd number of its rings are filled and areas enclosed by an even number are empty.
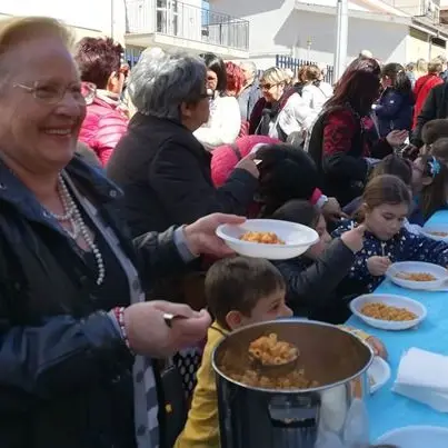
<svg viewBox="0 0 448 448">
<path fill-rule="evenodd" d="M 100 97 L 97 91 L 92 102 L 87 104 L 79 140 L 93 149 L 104 167 L 127 129 L 128 119 L 118 109 L 118 101 L 106 94 Z"/>
</svg>

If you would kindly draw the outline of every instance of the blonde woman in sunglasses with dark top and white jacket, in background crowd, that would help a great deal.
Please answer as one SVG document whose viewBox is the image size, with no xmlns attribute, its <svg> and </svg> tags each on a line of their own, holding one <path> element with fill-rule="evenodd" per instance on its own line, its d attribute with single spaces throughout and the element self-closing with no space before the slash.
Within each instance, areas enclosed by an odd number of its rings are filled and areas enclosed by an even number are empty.
<svg viewBox="0 0 448 448">
<path fill-rule="evenodd" d="M 249 133 L 287 141 L 292 132 L 305 136 L 317 113 L 293 88 L 288 88 L 288 73 L 277 67 L 266 70 L 260 79 L 262 98 L 250 116 Z"/>
</svg>

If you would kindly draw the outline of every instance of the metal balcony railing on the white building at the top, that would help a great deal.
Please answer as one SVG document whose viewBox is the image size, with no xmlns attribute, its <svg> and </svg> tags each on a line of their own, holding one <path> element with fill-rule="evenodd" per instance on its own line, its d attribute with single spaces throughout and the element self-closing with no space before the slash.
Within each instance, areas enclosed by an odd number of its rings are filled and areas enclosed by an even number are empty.
<svg viewBox="0 0 448 448">
<path fill-rule="evenodd" d="M 249 22 L 176 0 L 126 0 L 127 32 L 248 50 Z"/>
</svg>

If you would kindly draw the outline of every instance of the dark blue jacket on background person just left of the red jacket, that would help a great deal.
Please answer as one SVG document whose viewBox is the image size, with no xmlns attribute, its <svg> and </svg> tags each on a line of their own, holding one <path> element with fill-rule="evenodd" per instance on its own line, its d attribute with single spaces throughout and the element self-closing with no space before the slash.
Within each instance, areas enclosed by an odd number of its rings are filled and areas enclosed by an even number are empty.
<svg viewBox="0 0 448 448">
<path fill-rule="evenodd" d="M 406 94 L 387 88 L 375 109 L 380 137 L 386 137 L 392 130 L 410 131 L 414 103 L 412 92 Z"/>
</svg>

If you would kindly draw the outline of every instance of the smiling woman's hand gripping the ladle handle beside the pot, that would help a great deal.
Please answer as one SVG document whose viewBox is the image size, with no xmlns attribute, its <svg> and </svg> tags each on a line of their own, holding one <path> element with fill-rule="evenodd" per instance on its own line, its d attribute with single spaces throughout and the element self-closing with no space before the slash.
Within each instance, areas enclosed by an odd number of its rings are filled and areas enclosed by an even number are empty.
<svg viewBox="0 0 448 448">
<path fill-rule="evenodd" d="M 180 315 L 169 327 L 165 313 Z M 130 349 L 137 355 L 168 357 L 203 339 L 211 323 L 206 310 L 193 311 L 188 305 L 155 300 L 135 303 L 125 310 L 125 328 Z"/>
</svg>

